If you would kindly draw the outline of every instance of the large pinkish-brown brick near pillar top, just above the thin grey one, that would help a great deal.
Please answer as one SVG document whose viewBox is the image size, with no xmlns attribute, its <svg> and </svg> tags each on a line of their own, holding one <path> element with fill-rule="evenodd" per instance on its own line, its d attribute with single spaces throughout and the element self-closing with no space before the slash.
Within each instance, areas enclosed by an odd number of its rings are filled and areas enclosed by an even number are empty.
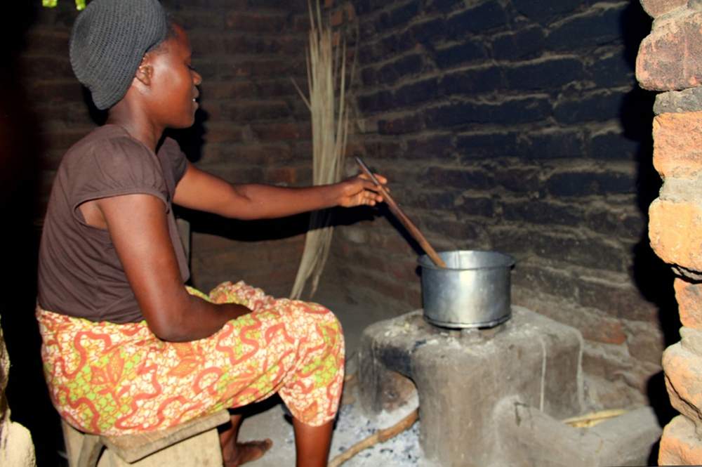
<svg viewBox="0 0 702 467">
<path fill-rule="evenodd" d="M 636 78 L 644 89 L 675 91 L 700 85 L 702 12 L 690 11 L 654 28 L 639 46 Z"/>
</svg>

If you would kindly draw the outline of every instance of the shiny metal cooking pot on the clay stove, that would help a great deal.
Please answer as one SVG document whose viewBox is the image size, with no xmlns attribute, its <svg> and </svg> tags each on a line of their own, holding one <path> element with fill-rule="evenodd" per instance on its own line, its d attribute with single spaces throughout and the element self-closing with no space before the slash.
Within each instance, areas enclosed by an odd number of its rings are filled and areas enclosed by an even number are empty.
<svg viewBox="0 0 702 467">
<path fill-rule="evenodd" d="M 512 256 L 497 251 L 443 251 L 446 268 L 420 256 L 425 319 L 449 328 L 494 327 L 510 319 Z"/>
</svg>

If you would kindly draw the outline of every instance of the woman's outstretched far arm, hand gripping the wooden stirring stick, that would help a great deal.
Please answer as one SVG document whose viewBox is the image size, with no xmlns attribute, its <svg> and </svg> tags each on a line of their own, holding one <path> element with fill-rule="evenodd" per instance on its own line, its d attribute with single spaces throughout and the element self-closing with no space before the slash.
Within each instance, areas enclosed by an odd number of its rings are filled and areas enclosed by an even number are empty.
<svg viewBox="0 0 702 467">
<path fill-rule="evenodd" d="M 377 178 L 386 182 L 383 176 Z M 333 206 L 373 206 L 381 201 L 376 186 L 365 176 L 307 188 L 231 185 L 190 163 L 173 197 L 180 206 L 237 219 L 277 218 Z"/>
</svg>

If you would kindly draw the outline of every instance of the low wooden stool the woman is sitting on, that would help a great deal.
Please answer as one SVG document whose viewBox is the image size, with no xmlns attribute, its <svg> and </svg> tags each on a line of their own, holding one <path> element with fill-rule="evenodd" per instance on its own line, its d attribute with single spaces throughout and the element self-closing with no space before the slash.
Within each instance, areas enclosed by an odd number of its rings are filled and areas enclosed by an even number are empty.
<svg viewBox="0 0 702 467">
<path fill-rule="evenodd" d="M 88 435 L 65 421 L 61 425 L 70 467 L 221 467 L 217 427 L 229 420 L 222 410 L 173 428 L 123 436 Z"/>
</svg>

